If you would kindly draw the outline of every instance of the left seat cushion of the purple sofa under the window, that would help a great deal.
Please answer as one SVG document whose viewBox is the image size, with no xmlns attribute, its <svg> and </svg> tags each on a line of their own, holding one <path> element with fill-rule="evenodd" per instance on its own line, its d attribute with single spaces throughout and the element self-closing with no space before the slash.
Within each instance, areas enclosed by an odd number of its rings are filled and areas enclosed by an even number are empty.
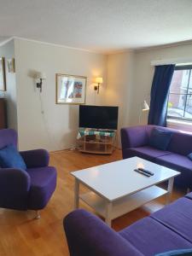
<svg viewBox="0 0 192 256">
<path fill-rule="evenodd" d="M 171 154 L 169 151 L 163 151 L 158 148 L 152 148 L 150 146 L 138 147 L 138 148 L 127 148 L 125 149 L 126 154 L 129 157 L 138 156 L 146 160 L 154 160 L 157 157 Z M 192 162 L 191 162 L 192 163 Z"/>
</svg>

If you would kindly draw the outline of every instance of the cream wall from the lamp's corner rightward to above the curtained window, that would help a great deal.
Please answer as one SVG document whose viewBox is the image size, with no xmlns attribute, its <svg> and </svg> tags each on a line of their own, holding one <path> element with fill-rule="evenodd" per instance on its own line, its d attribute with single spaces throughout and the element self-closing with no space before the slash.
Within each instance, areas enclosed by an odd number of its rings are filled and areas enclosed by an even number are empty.
<svg viewBox="0 0 192 256">
<path fill-rule="evenodd" d="M 192 57 L 192 44 L 108 55 L 106 101 L 119 106 L 119 129 L 147 124 L 148 112 L 142 112 L 141 109 L 144 100 L 148 104 L 150 102 L 154 77 L 151 61 L 189 57 Z"/>
</svg>

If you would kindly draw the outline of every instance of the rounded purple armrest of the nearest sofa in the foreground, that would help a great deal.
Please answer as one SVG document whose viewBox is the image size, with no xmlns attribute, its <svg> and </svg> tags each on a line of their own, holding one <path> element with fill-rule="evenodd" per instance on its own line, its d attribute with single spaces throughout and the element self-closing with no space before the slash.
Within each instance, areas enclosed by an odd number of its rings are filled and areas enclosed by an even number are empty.
<svg viewBox="0 0 192 256">
<path fill-rule="evenodd" d="M 82 209 L 64 218 L 71 256 L 141 256 L 137 249 L 100 218 Z"/>
</svg>

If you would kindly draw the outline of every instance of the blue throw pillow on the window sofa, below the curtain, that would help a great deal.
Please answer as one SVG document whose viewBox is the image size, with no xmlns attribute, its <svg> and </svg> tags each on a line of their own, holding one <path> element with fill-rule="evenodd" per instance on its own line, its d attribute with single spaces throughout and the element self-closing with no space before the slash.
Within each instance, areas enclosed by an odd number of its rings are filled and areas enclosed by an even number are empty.
<svg viewBox="0 0 192 256">
<path fill-rule="evenodd" d="M 149 146 L 166 150 L 172 138 L 172 131 L 164 131 L 154 128 L 149 137 Z"/>
</svg>

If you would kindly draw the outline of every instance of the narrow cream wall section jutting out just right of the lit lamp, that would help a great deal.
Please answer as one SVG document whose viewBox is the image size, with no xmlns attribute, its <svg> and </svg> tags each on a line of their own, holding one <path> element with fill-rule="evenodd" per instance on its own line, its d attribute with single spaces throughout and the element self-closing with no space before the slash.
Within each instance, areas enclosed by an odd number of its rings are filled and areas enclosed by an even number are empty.
<svg viewBox="0 0 192 256">
<path fill-rule="evenodd" d="M 119 131 L 121 127 L 130 125 L 134 56 L 132 51 L 108 55 L 106 103 L 119 106 Z"/>
</svg>

